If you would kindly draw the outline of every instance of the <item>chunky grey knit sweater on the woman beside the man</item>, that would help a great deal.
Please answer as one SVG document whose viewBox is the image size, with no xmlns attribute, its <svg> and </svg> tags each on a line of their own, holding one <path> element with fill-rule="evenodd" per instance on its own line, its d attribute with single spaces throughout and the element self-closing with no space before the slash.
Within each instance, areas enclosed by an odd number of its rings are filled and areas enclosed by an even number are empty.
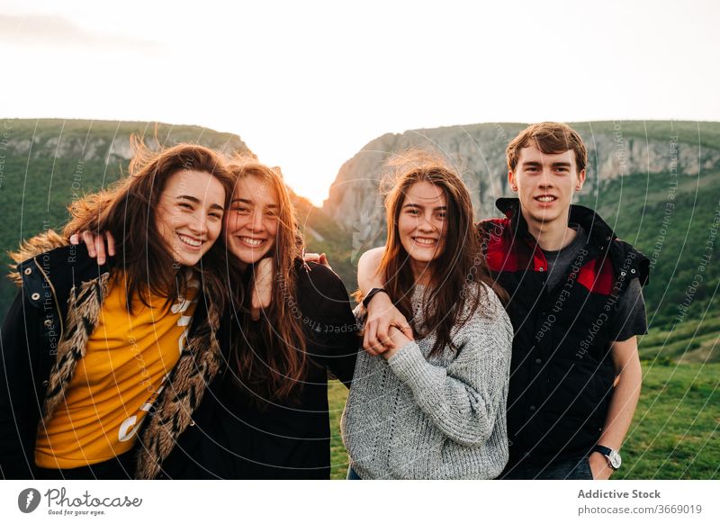
<svg viewBox="0 0 720 524">
<path fill-rule="evenodd" d="M 473 317 L 451 332 L 457 353 L 445 348 L 428 358 L 432 333 L 387 361 L 360 351 L 342 435 L 361 478 L 491 479 L 502 472 L 513 331 L 498 297 L 484 289 Z M 412 295 L 420 326 L 425 291 L 418 285 Z M 362 325 L 361 307 L 356 317 Z"/>
</svg>

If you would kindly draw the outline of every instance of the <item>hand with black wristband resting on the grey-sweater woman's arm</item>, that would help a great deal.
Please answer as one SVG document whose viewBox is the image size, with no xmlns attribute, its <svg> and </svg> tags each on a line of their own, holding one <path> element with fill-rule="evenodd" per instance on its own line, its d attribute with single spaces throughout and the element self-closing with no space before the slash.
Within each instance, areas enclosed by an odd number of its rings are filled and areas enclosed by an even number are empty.
<svg viewBox="0 0 720 524">
<path fill-rule="evenodd" d="M 367 307 L 363 339 L 365 351 L 375 357 L 395 348 L 396 340 L 390 334 L 391 327 L 401 330 L 405 339 L 413 340 L 408 320 L 398 311 L 390 297 L 385 293 L 375 294 Z"/>
</svg>

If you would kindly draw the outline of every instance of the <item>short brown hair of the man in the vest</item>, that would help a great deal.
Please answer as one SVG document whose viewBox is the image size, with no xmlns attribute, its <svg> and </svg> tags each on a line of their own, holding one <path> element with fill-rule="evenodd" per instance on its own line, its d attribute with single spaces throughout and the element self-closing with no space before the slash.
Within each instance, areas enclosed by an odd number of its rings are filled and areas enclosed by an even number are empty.
<svg viewBox="0 0 720 524">
<path fill-rule="evenodd" d="M 536 146 L 545 155 L 557 155 L 568 150 L 574 151 L 578 173 L 588 164 L 588 149 L 585 147 L 585 143 L 578 132 L 565 123 L 540 122 L 520 131 L 505 150 L 510 171 L 515 171 L 515 168 L 518 167 L 520 149 L 530 146 Z"/>
</svg>

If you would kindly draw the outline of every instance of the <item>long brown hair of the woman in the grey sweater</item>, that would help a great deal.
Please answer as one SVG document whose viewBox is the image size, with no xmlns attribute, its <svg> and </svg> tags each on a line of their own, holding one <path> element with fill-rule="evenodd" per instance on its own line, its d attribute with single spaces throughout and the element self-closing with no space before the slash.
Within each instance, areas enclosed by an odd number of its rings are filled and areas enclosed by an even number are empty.
<svg viewBox="0 0 720 524">
<path fill-rule="evenodd" d="M 419 149 L 395 155 L 387 166 L 391 168 L 393 184 L 385 198 L 388 232 L 378 272 L 392 302 L 410 321 L 416 335 L 423 338 L 435 332 L 437 339 L 430 355 L 437 355 L 443 348 L 453 348 L 451 330 L 470 320 L 479 307 L 485 288 L 479 286 L 480 293 L 468 293 L 469 285 L 482 282 L 500 296 L 505 292 L 495 284 L 485 266 L 480 237 L 473 224 L 470 193 L 455 170 L 436 153 Z M 398 227 L 405 195 L 418 182 L 428 182 L 443 191 L 447 217 L 443 251 L 429 266 L 431 284 L 423 301 L 423 325 L 412 321 L 410 302 L 415 277 Z"/>
</svg>

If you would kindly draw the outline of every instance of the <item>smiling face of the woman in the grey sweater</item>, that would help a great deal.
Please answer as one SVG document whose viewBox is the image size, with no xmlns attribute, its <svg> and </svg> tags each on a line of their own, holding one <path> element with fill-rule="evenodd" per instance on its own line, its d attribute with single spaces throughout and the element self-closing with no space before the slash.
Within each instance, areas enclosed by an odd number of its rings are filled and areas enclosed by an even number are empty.
<svg viewBox="0 0 720 524">
<path fill-rule="evenodd" d="M 410 185 L 400 209 L 398 231 L 402 247 L 410 255 L 416 281 L 428 282 L 428 264 L 445 248 L 446 196 L 437 185 L 416 182 Z"/>
</svg>

